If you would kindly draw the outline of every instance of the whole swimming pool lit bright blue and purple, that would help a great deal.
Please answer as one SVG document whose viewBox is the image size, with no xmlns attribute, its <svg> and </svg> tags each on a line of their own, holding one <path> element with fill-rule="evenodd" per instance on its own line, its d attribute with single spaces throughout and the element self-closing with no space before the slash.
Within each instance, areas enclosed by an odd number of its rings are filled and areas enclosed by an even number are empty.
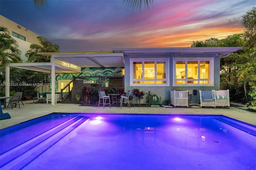
<svg viewBox="0 0 256 170">
<path fill-rule="evenodd" d="M 0 169 L 255 170 L 256 127 L 221 115 L 52 113 L 0 131 Z"/>
</svg>

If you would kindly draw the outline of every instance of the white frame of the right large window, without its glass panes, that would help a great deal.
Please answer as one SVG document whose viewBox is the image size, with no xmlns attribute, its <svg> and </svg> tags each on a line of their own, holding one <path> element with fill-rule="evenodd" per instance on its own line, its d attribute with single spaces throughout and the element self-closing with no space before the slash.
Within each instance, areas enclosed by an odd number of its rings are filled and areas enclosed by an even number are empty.
<svg viewBox="0 0 256 170">
<path fill-rule="evenodd" d="M 198 83 L 187 83 L 190 81 L 185 77 L 185 83 L 175 83 L 175 81 L 180 81 L 182 79 L 176 79 L 176 61 L 185 61 L 185 75 L 188 75 L 187 68 L 188 68 L 188 61 L 198 61 L 197 67 L 197 75 L 198 79 L 194 79 L 193 81 L 198 81 Z M 210 62 L 210 78 L 209 79 L 202 79 L 200 78 L 200 61 L 209 61 Z M 180 86 L 200 86 L 200 87 L 209 87 L 214 86 L 214 57 L 206 57 L 206 58 L 198 58 L 198 57 L 191 57 L 191 58 L 172 58 L 172 86 L 173 87 L 180 87 Z M 200 84 L 200 81 L 210 81 L 209 84 Z"/>
</svg>

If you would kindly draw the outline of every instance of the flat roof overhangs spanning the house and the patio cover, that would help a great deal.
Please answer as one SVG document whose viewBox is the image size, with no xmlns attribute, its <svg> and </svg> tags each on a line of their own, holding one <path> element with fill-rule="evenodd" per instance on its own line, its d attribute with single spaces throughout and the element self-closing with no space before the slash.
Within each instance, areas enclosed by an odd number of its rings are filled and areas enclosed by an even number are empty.
<svg viewBox="0 0 256 170">
<path fill-rule="evenodd" d="M 124 55 L 129 54 L 203 54 L 216 53 L 228 56 L 242 47 L 172 47 L 172 48 L 125 48 L 112 49 L 112 51 L 89 51 L 89 52 L 54 52 L 39 53 L 40 55 L 54 57 L 78 67 L 124 67 Z M 184 56 L 185 57 L 185 56 Z M 50 73 L 52 63 L 10 63 L 10 67 L 29 69 Z M 66 67 L 60 63 L 54 64 L 56 73 L 80 73 L 81 70 Z"/>
</svg>

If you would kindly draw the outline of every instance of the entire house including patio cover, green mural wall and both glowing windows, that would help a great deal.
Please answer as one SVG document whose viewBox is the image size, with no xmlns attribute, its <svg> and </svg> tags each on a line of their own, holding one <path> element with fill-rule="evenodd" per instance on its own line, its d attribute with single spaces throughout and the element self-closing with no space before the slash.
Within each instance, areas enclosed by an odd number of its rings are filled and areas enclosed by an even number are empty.
<svg viewBox="0 0 256 170">
<path fill-rule="evenodd" d="M 42 53 L 51 56 L 51 63 L 10 63 L 8 67 L 51 73 L 54 77 L 51 83 L 54 93 L 60 89 L 59 81 L 71 81 L 73 76 L 122 75 L 124 71 L 125 91 L 135 88 L 145 93 L 151 91 L 161 97 L 160 103 L 163 104 L 170 100 L 170 90 L 189 90 L 192 95 L 190 103 L 193 104 L 200 103 L 199 93 L 192 94 L 193 90 L 220 89 L 220 58 L 239 49 L 242 47 L 133 48 Z"/>
</svg>

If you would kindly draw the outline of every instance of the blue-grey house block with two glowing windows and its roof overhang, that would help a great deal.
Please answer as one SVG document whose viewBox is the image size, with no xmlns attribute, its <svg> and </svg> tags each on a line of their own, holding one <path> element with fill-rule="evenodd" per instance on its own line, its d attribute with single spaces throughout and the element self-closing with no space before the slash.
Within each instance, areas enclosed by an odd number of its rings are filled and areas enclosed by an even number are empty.
<svg viewBox="0 0 256 170">
<path fill-rule="evenodd" d="M 124 53 L 124 85 L 151 91 L 170 101 L 170 90 L 189 90 L 191 104 L 200 103 L 199 90 L 220 89 L 220 58 L 242 47 L 112 49 Z M 193 94 L 194 91 L 194 94 Z M 198 91 L 197 94 L 196 91 Z"/>
</svg>

